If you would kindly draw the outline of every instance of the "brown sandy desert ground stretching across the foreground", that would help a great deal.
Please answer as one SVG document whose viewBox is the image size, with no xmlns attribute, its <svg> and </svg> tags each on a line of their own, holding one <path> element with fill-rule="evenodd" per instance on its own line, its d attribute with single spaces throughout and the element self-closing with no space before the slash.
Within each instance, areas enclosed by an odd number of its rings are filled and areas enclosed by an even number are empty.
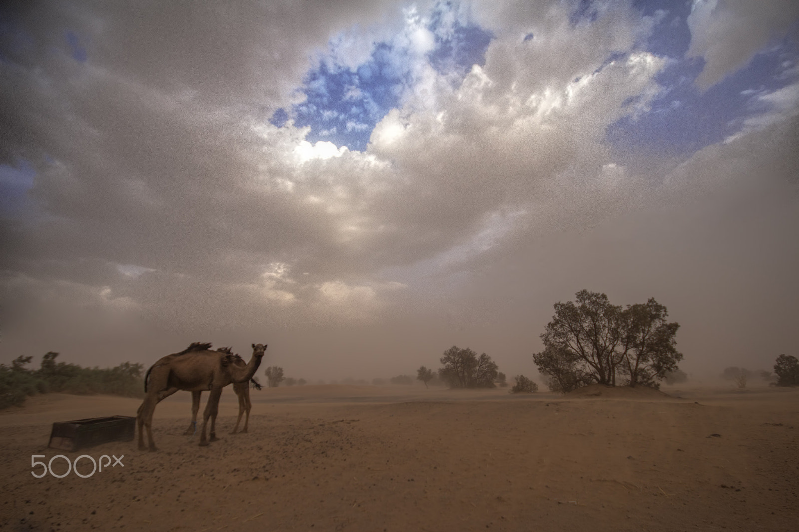
<svg viewBox="0 0 799 532">
<path fill-rule="evenodd" d="M 157 407 L 155 453 L 48 449 L 54 421 L 139 401 L 34 397 L 0 412 L 0 528 L 799 530 L 799 390 L 665 390 L 264 389 L 239 435 L 226 390 L 202 448 L 181 392 Z M 124 467 L 34 478 L 30 455 L 57 454 Z"/>
</svg>

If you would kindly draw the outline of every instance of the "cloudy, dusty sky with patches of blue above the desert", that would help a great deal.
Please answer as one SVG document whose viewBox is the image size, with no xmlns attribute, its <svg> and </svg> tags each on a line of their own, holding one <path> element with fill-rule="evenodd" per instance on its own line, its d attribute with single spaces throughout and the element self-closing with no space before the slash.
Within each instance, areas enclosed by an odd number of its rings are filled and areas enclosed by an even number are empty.
<svg viewBox="0 0 799 532">
<path fill-rule="evenodd" d="M 3 2 L 0 363 L 535 377 L 585 288 L 770 368 L 797 115 L 794 0 Z"/>
</svg>

